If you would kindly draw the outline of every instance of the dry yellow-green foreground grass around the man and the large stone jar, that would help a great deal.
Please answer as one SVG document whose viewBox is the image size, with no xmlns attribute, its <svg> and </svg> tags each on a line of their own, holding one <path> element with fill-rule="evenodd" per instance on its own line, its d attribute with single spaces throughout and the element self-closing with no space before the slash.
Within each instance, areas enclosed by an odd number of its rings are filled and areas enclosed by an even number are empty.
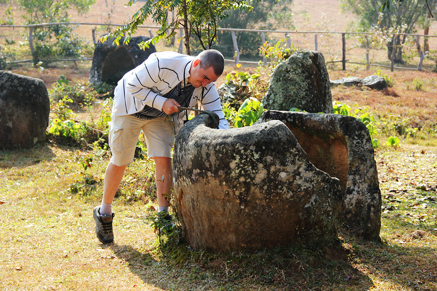
<svg viewBox="0 0 437 291">
<path fill-rule="evenodd" d="M 0 152 L 0 287 L 2 290 L 436 290 L 435 148 L 379 149 L 383 196 L 382 243 L 340 230 L 340 247 L 277 248 L 255 253 L 194 251 L 170 237 L 160 248 L 144 195 L 152 166 L 128 167 L 115 200 L 116 241 L 95 238 L 92 208 L 99 203 L 107 158 L 83 173 L 78 152 L 53 142 Z M 95 188 L 70 192 L 92 176 Z M 86 187 L 85 183 L 83 182 Z M 152 189 L 149 189 L 153 191 Z M 426 235 L 411 235 L 416 229 Z"/>
</svg>

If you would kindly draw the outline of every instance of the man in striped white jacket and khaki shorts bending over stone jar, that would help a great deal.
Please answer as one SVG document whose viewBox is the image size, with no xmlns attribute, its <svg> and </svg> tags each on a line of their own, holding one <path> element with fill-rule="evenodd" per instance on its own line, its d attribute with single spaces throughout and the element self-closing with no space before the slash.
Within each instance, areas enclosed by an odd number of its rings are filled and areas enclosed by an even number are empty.
<svg viewBox="0 0 437 291">
<path fill-rule="evenodd" d="M 102 243 L 114 240 L 112 202 L 126 166 L 134 161 L 141 129 L 146 137 L 147 155 L 155 162 L 158 211 L 168 211 L 173 181 L 171 147 L 174 136 L 187 119 L 179 107 L 200 103 L 220 117 L 218 127 L 229 128 L 214 83 L 223 73 L 225 60 L 216 50 L 197 57 L 174 52 L 154 53 L 126 73 L 114 92 L 109 143 L 113 154 L 104 176 L 101 205 L 94 208 L 95 231 Z M 164 179 L 162 179 L 164 177 Z"/>
</svg>

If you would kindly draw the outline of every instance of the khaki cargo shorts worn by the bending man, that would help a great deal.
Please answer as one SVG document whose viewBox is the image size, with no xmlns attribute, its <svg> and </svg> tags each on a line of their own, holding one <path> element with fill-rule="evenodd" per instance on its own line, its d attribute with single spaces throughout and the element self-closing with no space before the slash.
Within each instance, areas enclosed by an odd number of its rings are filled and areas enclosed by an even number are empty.
<svg viewBox="0 0 437 291">
<path fill-rule="evenodd" d="M 126 166 L 134 161 L 135 148 L 141 129 L 146 137 L 147 156 L 171 158 L 174 144 L 174 121 L 171 117 L 158 117 L 151 120 L 131 115 L 115 116 L 110 122 L 109 144 L 113 154 L 111 162 Z"/>
</svg>

